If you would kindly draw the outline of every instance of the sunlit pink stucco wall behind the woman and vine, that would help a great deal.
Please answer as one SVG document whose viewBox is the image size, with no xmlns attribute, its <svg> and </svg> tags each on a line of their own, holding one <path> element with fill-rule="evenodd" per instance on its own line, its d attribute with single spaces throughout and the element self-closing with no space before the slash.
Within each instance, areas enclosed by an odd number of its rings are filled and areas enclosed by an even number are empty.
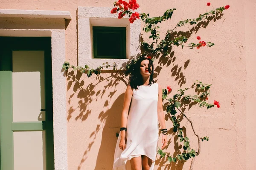
<svg viewBox="0 0 256 170">
<path fill-rule="evenodd" d="M 218 100 L 220 108 L 209 110 L 195 106 L 185 113 L 194 121 L 201 136 L 201 154 L 196 158 L 195 170 L 253 170 L 256 168 L 254 141 L 256 135 L 254 101 L 256 95 L 255 39 L 256 2 L 254 0 L 214 0 L 207 7 L 205 0 L 138 0 L 141 12 L 151 16 L 162 15 L 166 9 L 176 8 L 171 21 L 160 24 L 161 32 L 171 29 L 180 20 L 198 17 L 220 6 L 230 5 L 221 19 L 210 22 L 192 34 L 188 42 L 202 40 L 215 43 L 211 48 L 181 49 L 174 47 L 174 65 L 157 64 L 162 69 L 155 76 L 163 87 L 177 89 L 189 87 L 196 80 L 213 84 L 209 102 Z M 210 1 L 209 1 L 210 2 Z M 77 8 L 78 6 L 112 6 L 113 0 L 1 0 L 1 9 L 70 11 L 72 20 L 66 29 L 66 61 L 77 61 Z M 184 32 L 192 26 L 177 30 Z M 186 69 L 184 64 L 188 64 Z M 177 68 L 177 70 L 175 69 Z M 60 68 L 61 69 L 61 68 Z M 179 72 L 180 69 L 180 72 Z M 159 70 L 159 69 L 158 69 Z M 111 170 L 116 133 L 128 79 L 116 72 L 103 72 L 87 78 L 70 72 L 67 76 L 67 144 L 69 170 Z M 180 87 L 181 86 L 181 87 Z M 197 148 L 197 139 L 185 120 L 191 146 Z M 172 122 L 166 121 L 170 129 Z M 169 135 L 167 151 L 175 152 L 174 136 Z M 190 161 L 172 164 L 158 160 L 155 170 L 189 169 Z M 163 166 L 163 167 L 159 167 Z"/>
</svg>

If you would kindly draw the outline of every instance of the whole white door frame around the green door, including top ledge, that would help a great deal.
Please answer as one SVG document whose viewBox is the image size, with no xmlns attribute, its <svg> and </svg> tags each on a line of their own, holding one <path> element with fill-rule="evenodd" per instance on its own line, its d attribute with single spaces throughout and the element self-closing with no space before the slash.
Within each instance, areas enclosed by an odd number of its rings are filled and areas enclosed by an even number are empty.
<svg viewBox="0 0 256 170">
<path fill-rule="evenodd" d="M 29 28 L 20 18 L 31 21 L 43 20 L 43 25 L 35 29 Z M 46 19 L 49 18 L 49 19 Z M 17 22 L 8 22 L 17 20 Z M 50 23 L 56 20 L 49 28 Z M 65 22 L 71 20 L 67 11 L 39 11 L 0 9 L 0 36 L 11 37 L 52 37 L 52 97 L 53 97 L 53 138 L 54 138 L 54 167 L 55 170 L 67 170 L 67 108 L 66 108 L 66 78 L 61 70 L 65 61 Z M 3 21 L 3 22 L 1 22 Z M 15 25 L 13 24 L 15 23 Z M 45 24 L 45 28 L 44 28 Z M 33 25 L 33 22 L 31 22 Z M 58 29 L 56 29 L 58 28 Z"/>
</svg>

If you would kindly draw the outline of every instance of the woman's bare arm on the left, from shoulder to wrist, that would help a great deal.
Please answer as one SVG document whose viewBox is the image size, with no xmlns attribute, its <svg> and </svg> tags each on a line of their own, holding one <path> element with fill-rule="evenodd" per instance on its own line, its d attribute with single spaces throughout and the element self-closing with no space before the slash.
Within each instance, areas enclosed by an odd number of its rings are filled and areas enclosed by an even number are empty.
<svg viewBox="0 0 256 170">
<path fill-rule="evenodd" d="M 133 95 L 133 90 L 131 86 L 128 85 L 125 91 L 125 98 L 124 98 L 124 104 L 123 104 L 122 116 L 121 116 L 121 127 L 126 127 L 127 125 L 127 118 L 128 118 L 128 112 L 129 112 L 132 95 Z M 120 134 L 121 134 L 121 138 L 124 139 L 125 130 L 122 130 Z"/>
</svg>

